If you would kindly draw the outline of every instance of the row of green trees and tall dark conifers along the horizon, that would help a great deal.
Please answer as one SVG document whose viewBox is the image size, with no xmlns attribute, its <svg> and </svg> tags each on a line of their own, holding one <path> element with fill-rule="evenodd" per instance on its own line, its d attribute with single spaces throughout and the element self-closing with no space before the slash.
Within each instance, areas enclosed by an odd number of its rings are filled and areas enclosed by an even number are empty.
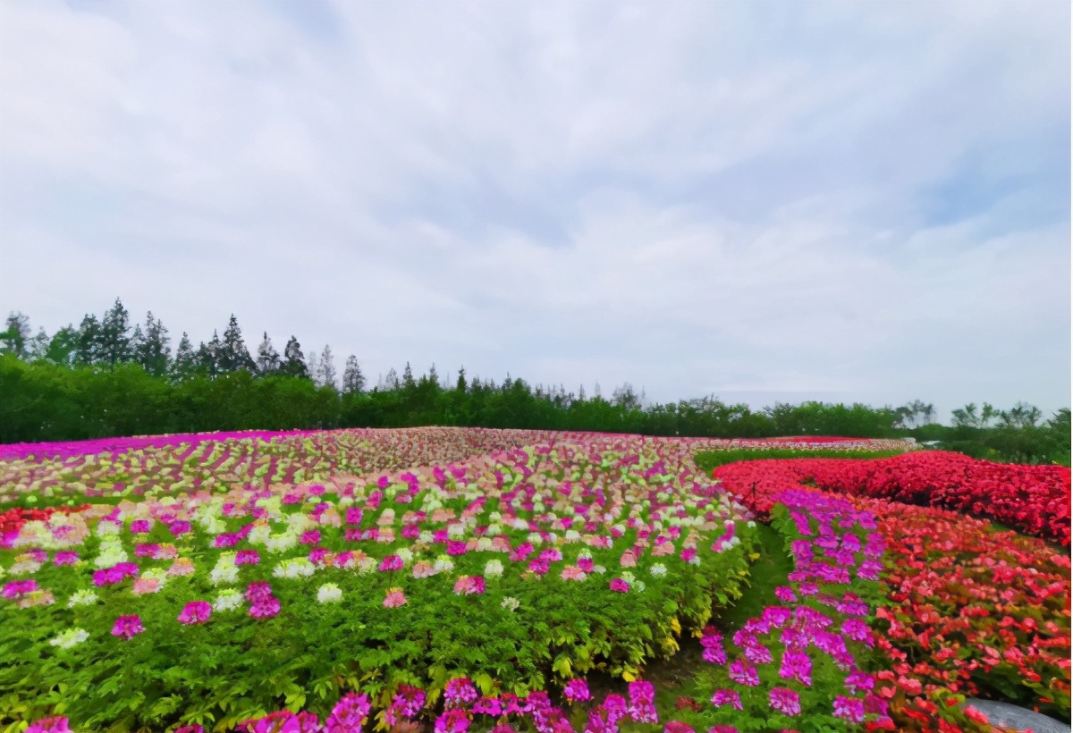
<svg viewBox="0 0 1073 733">
<path fill-rule="evenodd" d="M 250 354 L 234 314 L 209 341 L 193 347 L 187 333 L 174 354 L 167 328 L 150 311 L 131 324 L 117 298 L 101 318 L 49 336 L 11 313 L 0 333 L 0 442 L 78 440 L 202 430 L 457 425 L 638 433 L 657 436 L 763 438 L 828 435 L 915 437 L 976 457 L 1069 464 L 1070 411 L 1043 421 L 1018 402 L 954 410 L 952 425 L 935 422 L 935 407 L 807 401 L 762 410 L 715 396 L 649 404 L 629 383 L 605 398 L 563 385 L 530 385 L 510 375 L 501 382 L 453 381 L 435 365 L 414 376 L 408 363 L 369 389 L 350 355 L 337 380 L 325 346 L 307 361 L 291 336 L 282 355 L 263 335 Z"/>
</svg>

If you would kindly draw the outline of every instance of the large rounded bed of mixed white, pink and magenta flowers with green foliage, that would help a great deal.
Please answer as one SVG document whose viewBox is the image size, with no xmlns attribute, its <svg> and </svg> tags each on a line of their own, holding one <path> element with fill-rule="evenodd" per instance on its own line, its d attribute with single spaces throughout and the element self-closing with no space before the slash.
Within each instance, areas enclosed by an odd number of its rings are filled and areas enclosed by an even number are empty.
<svg viewBox="0 0 1073 733">
<path fill-rule="evenodd" d="M 672 443 L 562 436 L 350 479 L 24 524 L 0 551 L 0 717 L 229 728 L 354 689 L 432 704 L 459 676 L 631 679 L 739 596 L 754 542 Z"/>
</svg>

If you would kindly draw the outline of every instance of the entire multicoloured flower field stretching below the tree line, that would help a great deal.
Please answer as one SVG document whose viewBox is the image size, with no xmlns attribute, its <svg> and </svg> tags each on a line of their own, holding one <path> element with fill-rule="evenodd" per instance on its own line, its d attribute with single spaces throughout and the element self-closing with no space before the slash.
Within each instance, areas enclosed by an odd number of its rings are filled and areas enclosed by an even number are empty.
<svg viewBox="0 0 1073 733">
<path fill-rule="evenodd" d="M 898 443 L 412 428 L 0 446 L 0 730 L 989 730 L 957 694 L 1068 720 L 1068 469 L 923 452 L 712 479 L 693 461 L 788 445 Z M 794 569 L 732 630 L 754 513 Z M 646 666 L 691 639 L 703 700 L 659 708 Z"/>
</svg>

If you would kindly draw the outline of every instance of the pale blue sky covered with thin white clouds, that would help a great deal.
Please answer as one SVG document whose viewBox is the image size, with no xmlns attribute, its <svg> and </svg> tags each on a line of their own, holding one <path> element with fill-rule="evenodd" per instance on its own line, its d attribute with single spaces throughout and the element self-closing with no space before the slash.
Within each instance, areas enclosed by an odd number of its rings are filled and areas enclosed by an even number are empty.
<svg viewBox="0 0 1073 733">
<path fill-rule="evenodd" d="M 1067 2 L 0 1 L 0 310 L 1070 405 Z"/>
</svg>

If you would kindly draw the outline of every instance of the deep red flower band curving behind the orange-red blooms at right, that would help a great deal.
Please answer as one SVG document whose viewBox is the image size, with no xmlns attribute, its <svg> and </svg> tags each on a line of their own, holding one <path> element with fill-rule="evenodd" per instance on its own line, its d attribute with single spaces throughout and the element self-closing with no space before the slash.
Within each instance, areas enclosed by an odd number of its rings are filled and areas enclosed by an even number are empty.
<svg viewBox="0 0 1073 733">
<path fill-rule="evenodd" d="M 720 466 L 712 477 L 766 514 L 773 497 L 806 484 L 853 496 L 975 514 L 1070 545 L 1070 469 L 921 451 L 893 458 L 795 458 Z M 755 498 L 753 498 L 755 497 Z"/>
</svg>

